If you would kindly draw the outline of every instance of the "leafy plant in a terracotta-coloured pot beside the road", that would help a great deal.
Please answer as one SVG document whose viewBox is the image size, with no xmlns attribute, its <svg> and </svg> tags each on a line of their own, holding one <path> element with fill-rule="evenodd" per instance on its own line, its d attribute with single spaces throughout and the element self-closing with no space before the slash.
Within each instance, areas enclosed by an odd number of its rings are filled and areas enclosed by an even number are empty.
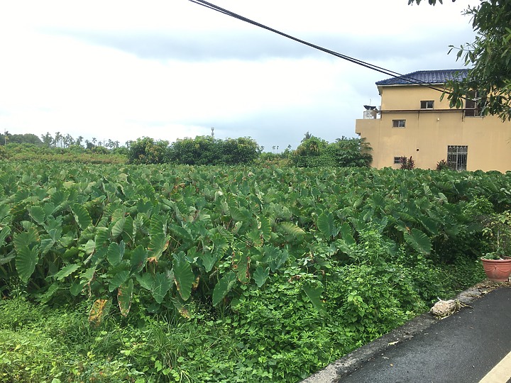
<svg viewBox="0 0 511 383">
<path fill-rule="evenodd" d="M 493 250 L 481 257 L 486 276 L 495 282 L 506 282 L 511 274 L 511 211 L 488 217 L 483 235 Z"/>
</svg>

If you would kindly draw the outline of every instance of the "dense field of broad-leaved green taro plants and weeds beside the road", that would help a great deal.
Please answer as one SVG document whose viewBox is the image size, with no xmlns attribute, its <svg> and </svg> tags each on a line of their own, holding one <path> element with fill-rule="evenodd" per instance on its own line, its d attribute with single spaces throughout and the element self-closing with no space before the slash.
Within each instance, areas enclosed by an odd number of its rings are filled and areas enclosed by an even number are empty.
<svg viewBox="0 0 511 383">
<path fill-rule="evenodd" d="M 510 183 L 1 162 L 0 382 L 297 382 L 482 279 Z"/>
</svg>

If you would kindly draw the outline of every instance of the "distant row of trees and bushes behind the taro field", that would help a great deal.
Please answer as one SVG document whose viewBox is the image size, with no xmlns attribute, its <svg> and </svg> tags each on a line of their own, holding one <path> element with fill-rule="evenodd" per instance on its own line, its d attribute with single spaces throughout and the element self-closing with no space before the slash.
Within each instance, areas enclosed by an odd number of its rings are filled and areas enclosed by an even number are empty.
<svg viewBox="0 0 511 383">
<path fill-rule="evenodd" d="M 6 145 L 7 144 L 7 145 Z M 82 136 L 46 133 L 40 138 L 31 133 L 0 134 L 0 159 L 59 160 L 67 162 L 110 162 L 131 164 L 241 165 L 253 162 L 278 162 L 297 167 L 368 167 L 370 146 L 361 138 L 338 138 L 328 143 L 307 132 L 296 150 L 289 145 L 283 152 L 263 152 L 250 137 L 221 140 L 209 135 L 195 138 L 134 141 L 84 140 Z M 5 146 L 6 145 L 6 146 Z"/>
</svg>

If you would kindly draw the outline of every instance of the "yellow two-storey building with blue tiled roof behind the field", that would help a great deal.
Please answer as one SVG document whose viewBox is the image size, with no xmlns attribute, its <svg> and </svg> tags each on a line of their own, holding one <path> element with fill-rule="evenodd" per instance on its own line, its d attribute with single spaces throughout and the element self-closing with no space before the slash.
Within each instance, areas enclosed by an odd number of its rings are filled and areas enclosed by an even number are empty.
<svg viewBox="0 0 511 383">
<path fill-rule="evenodd" d="M 456 170 L 511 170 L 511 122 L 481 117 L 475 101 L 463 109 L 449 108 L 447 96 L 440 101 L 445 82 L 466 74 L 418 71 L 377 82 L 380 108 L 366 106 L 356 121 L 356 133 L 373 148 L 372 166 L 399 168 L 402 157 L 412 157 L 422 169 L 445 160 Z"/>
</svg>

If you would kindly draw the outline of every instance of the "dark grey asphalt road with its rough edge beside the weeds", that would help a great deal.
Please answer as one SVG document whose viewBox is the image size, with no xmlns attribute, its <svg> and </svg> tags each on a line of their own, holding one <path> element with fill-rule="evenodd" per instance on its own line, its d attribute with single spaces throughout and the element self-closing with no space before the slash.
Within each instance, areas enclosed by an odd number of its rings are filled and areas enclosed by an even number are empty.
<svg viewBox="0 0 511 383">
<path fill-rule="evenodd" d="M 336 362 L 330 375 L 320 373 L 306 381 L 478 383 L 511 352 L 511 288 L 500 287 L 469 304 L 440 321 L 429 321 L 429 314 L 417 318 L 416 330 L 413 323 L 412 330 L 405 325 L 374 345 L 364 346 L 361 353 L 354 352 L 344 362 Z M 353 364 L 357 358 L 363 360 Z M 345 368 L 350 364 L 356 366 L 354 372 L 354 368 Z M 504 368 L 511 371 L 509 363 Z M 505 372 L 505 376 L 504 380 L 490 382 L 506 383 L 510 374 Z"/>
</svg>

